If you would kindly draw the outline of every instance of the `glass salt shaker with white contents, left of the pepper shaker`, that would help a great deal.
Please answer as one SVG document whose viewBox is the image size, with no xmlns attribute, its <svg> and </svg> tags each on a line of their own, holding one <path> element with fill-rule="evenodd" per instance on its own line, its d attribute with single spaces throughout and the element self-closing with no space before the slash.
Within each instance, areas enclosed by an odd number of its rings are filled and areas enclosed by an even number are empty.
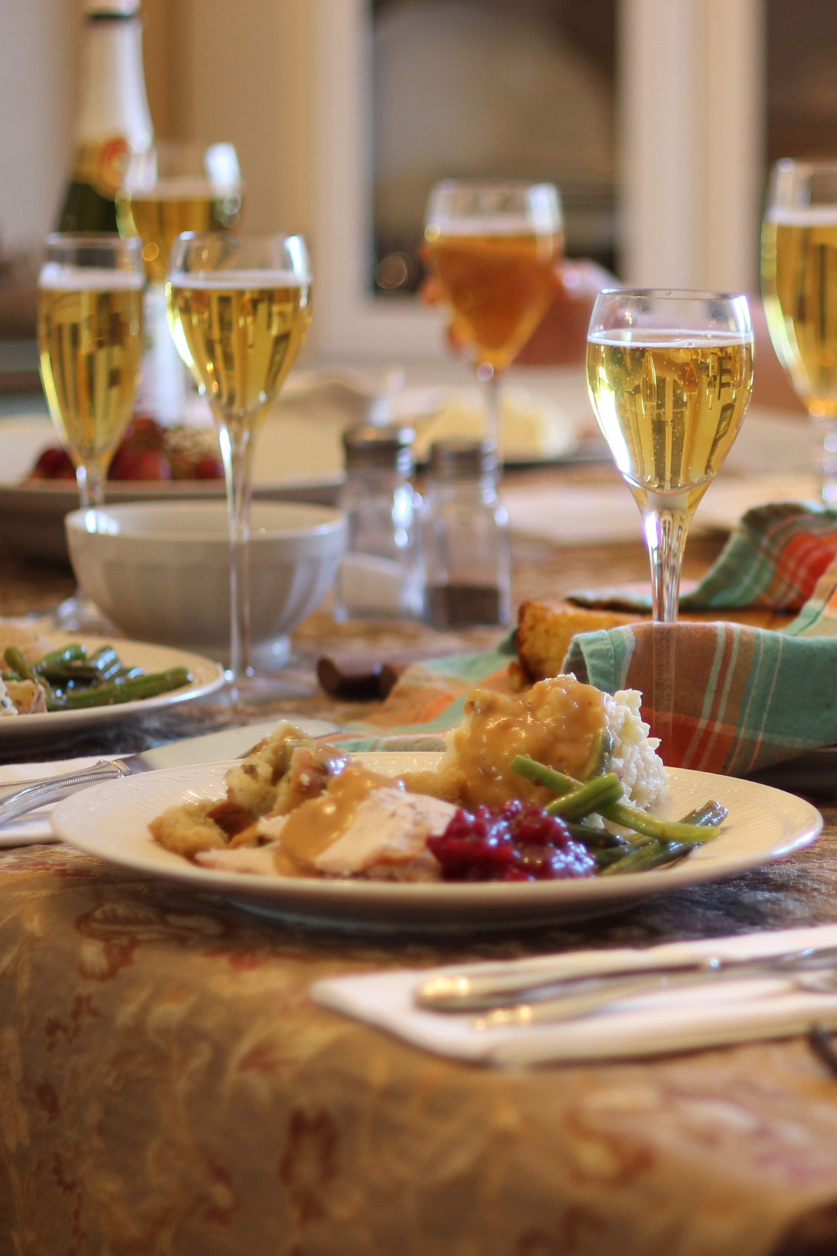
<svg viewBox="0 0 837 1256">
<path fill-rule="evenodd" d="M 410 427 L 361 426 L 344 432 L 340 506 L 349 533 L 338 579 L 338 618 L 422 613 L 413 440 Z"/>
</svg>

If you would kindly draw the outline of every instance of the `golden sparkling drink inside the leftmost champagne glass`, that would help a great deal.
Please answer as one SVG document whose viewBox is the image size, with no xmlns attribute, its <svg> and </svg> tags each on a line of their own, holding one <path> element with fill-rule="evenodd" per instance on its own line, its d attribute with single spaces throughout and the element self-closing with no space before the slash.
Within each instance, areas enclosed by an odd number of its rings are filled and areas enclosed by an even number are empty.
<svg viewBox="0 0 837 1256">
<path fill-rule="evenodd" d="M 107 275 L 107 273 L 103 273 Z M 38 339 L 46 402 L 74 461 L 112 455 L 131 418 L 143 352 L 142 276 L 45 286 Z M 109 457 L 108 457 L 109 461 Z"/>
</svg>

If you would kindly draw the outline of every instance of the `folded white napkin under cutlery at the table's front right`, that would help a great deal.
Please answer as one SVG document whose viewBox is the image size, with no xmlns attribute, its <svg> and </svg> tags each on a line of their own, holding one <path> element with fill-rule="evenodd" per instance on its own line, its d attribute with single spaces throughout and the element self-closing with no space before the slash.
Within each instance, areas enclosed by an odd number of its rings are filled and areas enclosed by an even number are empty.
<svg viewBox="0 0 837 1256">
<path fill-rule="evenodd" d="M 673 942 L 644 951 L 577 951 L 562 957 L 562 975 L 654 967 L 666 960 L 699 961 L 778 956 L 808 947 L 837 946 L 837 924 Z M 552 962 L 555 957 L 548 957 Z M 517 961 L 508 965 L 513 970 Z M 523 961 L 530 963 L 531 961 Z M 479 1027 L 478 1014 L 424 1011 L 413 1005 L 417 987 L 432 976 L 473 971 L 481 965 L 398 970 L 319 981 L 316 1002 L 376 1025 L 438 1055 L 484 1064 L 522 1065 L 547 1060 L 615 1060 L 788 1037 L 813 1024 L 837 1027 L 837 990 L 812 993 L 781 977 L 725 978 L 712 985 L 656 991 L 556 1025 Z M 488 967 L 496 968 L 492 963 Z M 837 967 L 837 963 L 836 963 Z"/>
</svg>

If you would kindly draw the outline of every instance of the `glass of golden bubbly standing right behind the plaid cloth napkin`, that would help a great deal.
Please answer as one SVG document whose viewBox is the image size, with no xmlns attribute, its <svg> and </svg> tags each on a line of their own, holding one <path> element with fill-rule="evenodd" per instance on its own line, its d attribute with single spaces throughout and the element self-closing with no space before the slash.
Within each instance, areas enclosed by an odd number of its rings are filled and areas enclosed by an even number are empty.
<svg viewBox="0 0 837 1256">
<path fill-rule="evenodd" d="M 602 436 L 642 515 L 654 620 L 671 625 L 689 524 L 738 435 L 753 388 L 747 298 L 600 293 L 587 333 L 587 388 Z M 669 745 L 673 649 L 673 636 L 656 632 L 654 731 Z"/>
</svg>

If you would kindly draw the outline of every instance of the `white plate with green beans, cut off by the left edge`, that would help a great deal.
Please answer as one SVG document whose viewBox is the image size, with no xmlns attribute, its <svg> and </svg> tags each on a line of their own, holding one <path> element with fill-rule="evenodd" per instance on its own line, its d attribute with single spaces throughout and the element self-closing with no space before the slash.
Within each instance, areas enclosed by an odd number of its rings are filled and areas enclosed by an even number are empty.
<svg viewBox="0 0 837 1256">
<path fill-rule="evenodd" d="M 35 741 L 60 741 L 61 737 L 79 728 L 100 723 L 112 723 L 127 716 L 139 715 L 159 707 L 188 702 L 213 693 L 223 685 L 223 668 L 220 663 L 203 654 L 192 654 L 184 649 L 172 649 L 169 646 L 151 646 L 141 641 L 123 641 L 120 637 L 90 637 L 87 633 L 58 632 L 49 629 L 44 636 L 53 642 L 54 649 L 79 642 L 88 649 L 100 646 L 113 646 L 119 658 L 128 667 L 142 667 L 146 672 L 167 672 L 169 667 L 187 667 L 192 679 L 179 690 L 158 693 L 153 698 L 137 702 L 117 702 L 113 706 L 83 707 L 79 711 L 48 711 L 44 715 L 19 715 L 0 720 L 0 751 L 8 746 Z"/>
</svg>

